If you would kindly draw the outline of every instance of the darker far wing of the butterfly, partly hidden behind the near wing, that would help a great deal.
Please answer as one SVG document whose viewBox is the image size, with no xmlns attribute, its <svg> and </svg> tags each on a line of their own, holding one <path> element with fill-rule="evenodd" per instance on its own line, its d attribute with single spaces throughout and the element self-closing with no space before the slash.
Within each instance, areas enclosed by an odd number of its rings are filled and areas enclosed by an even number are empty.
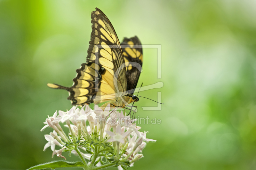
<svg viewBox="0 0 256 170">
<path fill-rule="evenodd" d="M 133 94 L 142 68 L 142 46 L 137 36 L 124 38 L 121 45 L 126 65 L 127 90 L 129 94 Z M 140 66 L 136 65 L 136 63 L 139 63 Z"/>
</svg>

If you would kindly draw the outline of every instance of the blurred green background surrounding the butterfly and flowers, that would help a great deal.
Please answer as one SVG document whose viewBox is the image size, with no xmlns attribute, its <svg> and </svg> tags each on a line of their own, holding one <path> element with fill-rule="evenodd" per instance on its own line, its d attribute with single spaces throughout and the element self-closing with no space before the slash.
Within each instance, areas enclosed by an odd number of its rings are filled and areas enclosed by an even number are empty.
<svg viewBox="0 0 256 170">
<path fill-rule="evenodd" d="M 71 105 L 67 92 L 46 84 L 72 85 L 86 60 L 95 7 L 120 41 L 137 35 L 162 47 L 162 78 L 157 51 L 147 48 L 138 84 L 163 82 L 140 95 L 156 100 L 162 92 L 165 104 L 143 111 L 157 104 L 136 103 L 137 115 L 162 123 L 140 125 L 157 142 L 130 169 L 256 169 L 255 0 L 0 0 L 0 168 L 60 159 L 50 148 L 43 152 L 51 129 L 40 129 L 47 115 Z"/>
</svg>

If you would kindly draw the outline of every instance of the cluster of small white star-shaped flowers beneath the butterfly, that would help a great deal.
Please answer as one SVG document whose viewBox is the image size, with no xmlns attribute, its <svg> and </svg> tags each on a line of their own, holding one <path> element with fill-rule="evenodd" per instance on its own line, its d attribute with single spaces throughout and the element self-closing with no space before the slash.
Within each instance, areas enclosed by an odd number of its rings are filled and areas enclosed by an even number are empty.
<svg viewBox="0 0 256 170">
<path fill-rule="evenodd" d="M 67 112 L 59 111 L 57 115 L 56 111 L 52 117 L 48 116 L 41 131 L 49 126 L 53 132 L 44 135 L 48 141 L 44 150 L 51 147 L 52 157 L 57 154 L 64 159 L 66 158 L 62 156 L 62 152 L 76 154 L 82 159 L 85 169 L 109 166 L 127 169 L 142 157 L 141 151 L 146 142 L 156 140 L 147 139 L 147 132 L 139 132 L 136 120 L 126 116 L 126 113 L 110 108 L 108 105 L 102 110 L 95 105 L 92 110 L 89 105 L 84 105 L 81 109 L 74 106 Z M 66 122 L 64 126 L 69 128 L 68 136 L 60 122 Z M 55 145 L 61 149 L 55 150 Z"/>
</svg>

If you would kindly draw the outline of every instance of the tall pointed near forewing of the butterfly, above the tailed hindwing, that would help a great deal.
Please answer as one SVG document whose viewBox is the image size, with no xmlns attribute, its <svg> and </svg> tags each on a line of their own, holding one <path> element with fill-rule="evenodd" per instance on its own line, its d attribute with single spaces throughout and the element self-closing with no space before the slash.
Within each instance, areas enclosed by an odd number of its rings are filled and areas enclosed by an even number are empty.
<svg viewBox="0 0 256 170">
<path fill-rule="evenodd" d="M 118 91 L 125 92 L 127 90 L 125 68 L 119 69 L 119 74 L 116 74 L 116 77 L 114 76 L 116 70 L 124 63 L 122 49 L 120 48 L 116 32 L 106 15 L 98 8 L 92 12 L 91 17 L 92 34 L 87 62 L 99 63 L 117 82 Z M 116 89 L 114 81 L 111 78 L 110 85 Z"/>
</svg>

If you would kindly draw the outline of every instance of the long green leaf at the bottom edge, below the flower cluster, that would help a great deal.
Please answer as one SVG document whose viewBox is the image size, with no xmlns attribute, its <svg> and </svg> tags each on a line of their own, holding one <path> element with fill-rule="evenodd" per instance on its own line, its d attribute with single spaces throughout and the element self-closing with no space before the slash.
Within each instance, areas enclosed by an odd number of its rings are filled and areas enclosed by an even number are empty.
<svg viewBox="0 0 256 170">
<path fill-rule="evenodd" d="M 44 168 L 55 169 L 60 167 L 84 167 L 84 164 L 82 162 L 53 161 L 53 162 L 48 162 L 45 164 L 33 166 L 27 170 L 44 169 Z"/>
</svg>

